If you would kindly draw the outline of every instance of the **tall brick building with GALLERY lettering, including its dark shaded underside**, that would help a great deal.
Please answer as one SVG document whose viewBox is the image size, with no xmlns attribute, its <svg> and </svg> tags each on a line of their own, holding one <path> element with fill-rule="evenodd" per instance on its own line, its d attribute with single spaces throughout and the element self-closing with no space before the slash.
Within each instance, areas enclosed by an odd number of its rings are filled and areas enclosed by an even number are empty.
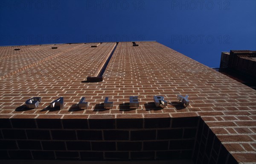
<svg viewBox="0 0 256 164">
<path fill-rule="evenodd" d="M 160 43 L 6 46 L 0 59 L 1 163 L 256 162 L 255 90 Z"/>
</svg>

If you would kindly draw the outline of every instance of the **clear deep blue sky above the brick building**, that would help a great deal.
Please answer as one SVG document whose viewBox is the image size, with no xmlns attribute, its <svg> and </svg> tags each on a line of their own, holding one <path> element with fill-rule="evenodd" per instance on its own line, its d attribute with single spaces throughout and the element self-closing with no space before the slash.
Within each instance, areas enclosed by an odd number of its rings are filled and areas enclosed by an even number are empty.
<svg viewBox="0 0 256 164">
<path fill-rule="evenodd" d="M 219 67 L 256 50 L 256 0 L 0 0 L 0 46 L 134 40 Z"/>
</svg>

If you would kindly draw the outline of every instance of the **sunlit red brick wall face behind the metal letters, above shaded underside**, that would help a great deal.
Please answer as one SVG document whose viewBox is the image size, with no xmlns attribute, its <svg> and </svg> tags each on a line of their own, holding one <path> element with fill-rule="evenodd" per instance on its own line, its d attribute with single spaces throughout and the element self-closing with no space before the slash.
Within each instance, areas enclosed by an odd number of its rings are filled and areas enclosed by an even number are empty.
<svg viewBox="0 0 256 164">
<path fill-rule="evenodd" d="M 5 72 L 1 73 L 0 81 L 0 120 L 64 120 L 69 115 L 89 120 L 101 117 L 114 120 L 130 115 L 145 119 L 157 113 L 171 118 L 200 116 L 236 161 L 256 161 L 255 90 L 160 43 L 137 44 L 137 47 L 131 42 L 118 44 L 103 75 L 104 81 L 99 83 L 84 81 L 102 66 L 115 43 L 102 43 L 96 48 L 91 48 L 92 43 L 19 46 L 20 51 L 14 51 L 17 47 L 0 47 L 1 58 L 4 58 L 0 60 L 1 72 Z M 58 49 L 51 49 L 52 46 Z M 177 102 L 178 94 L 189 95 L 189 106 L 185 108 Z M 129 96 L 133 95 L 139 98 L 138 109 L 128 106 Z M 153 95 L 164 96 L 167 107 L 156 108 Z M 40 106 L 24 109 L 24 102 L 35 96 L 42 97 Z M 64 109 L 46 108 L 61 96 L 64 97 Z M 76 104 L 83 96 L 89 108 L 80 110 Z M 112 109 L 103 108 L 101 103 L 105 96 L 113 101 Z M 62 126 L 58 121 L 54 124 L 43 122 L 38 128 Z M 98 124 L 94 125 L 93 128 L 97 128 Z M 129 122 L 129 125 L 134 124 Z M 20 126 L 35 128 L 29 127 L 32 126 L 29 122 Z M 201 151 L 203 149 L 195 156 L 197 161 L 211 160 L 210 155 L 204 157 Z M 214 158 L 215 162 L 219 162 L 218 159 Z"/>
</svg>

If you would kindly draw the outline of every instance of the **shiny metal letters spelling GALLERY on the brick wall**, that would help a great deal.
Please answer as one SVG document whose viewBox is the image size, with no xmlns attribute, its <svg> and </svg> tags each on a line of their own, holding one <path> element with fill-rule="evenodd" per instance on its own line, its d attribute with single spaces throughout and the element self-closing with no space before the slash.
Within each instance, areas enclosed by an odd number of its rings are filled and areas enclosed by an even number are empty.
<svg viewBox="0 0 256 164">
<path fill-rule="evenodd" d="M 189 98 L 188 95 L 186 95 L 185 97 L 183 97 L 182 95 L 177 95 L 177 99 L 181 101 L 183 104 L 185 104 L 186 106 L 189 105 L 188 98 Z M 25 104 L 27 108 L 34 109 L 39 106 L 41 101 L 42 101 L 41 97 L 33 97 L 33 98 L 29 98 L 25 102 Z M 153 101 L 156 107 L 167 106 L 167 101 L 164 100 L 163 96 L 153 96 Z M 138 96 L 130 96 L 130 108 L 137 108 L 139 107 L 139 105 L 140 105 L 140 102 L 139 102 Z M 59 106 L 61 109 L 64 108 L 64 97 L 57 98 L 56 100 L 50 103 L 51 108 L 54 108 L 56 106 Z M 85 97 L 81 98 L 81 100 L 78 103 L 78 106 L 80 109 L 87 109 L 89 104 L 88 102 L 86 102 Z M 112 108 L 112 107 L 113 107 L 113 102 L 109 101 L 108 97 L 105 97 L 104 108 Z"/>
</svg>

